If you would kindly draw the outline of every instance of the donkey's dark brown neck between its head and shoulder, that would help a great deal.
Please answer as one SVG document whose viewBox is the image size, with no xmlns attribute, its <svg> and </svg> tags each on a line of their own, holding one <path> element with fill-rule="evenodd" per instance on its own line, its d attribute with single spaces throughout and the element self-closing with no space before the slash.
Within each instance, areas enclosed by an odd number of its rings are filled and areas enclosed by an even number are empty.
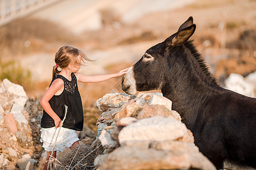
<svg viewBox="0 0 256 170">
<path fill-rule="evenodd" d="M 205 73 L 190 49 L 183 46 L 174 53 L 176 58 L 171 61 L 170 73 L 166 73 L 162 93 L 172 101 L 172 108 L 180 113 L 183 122 L 191 122 L 192 126 L 203 103 L 219 90 L 219 86 Z"/>
</svg>

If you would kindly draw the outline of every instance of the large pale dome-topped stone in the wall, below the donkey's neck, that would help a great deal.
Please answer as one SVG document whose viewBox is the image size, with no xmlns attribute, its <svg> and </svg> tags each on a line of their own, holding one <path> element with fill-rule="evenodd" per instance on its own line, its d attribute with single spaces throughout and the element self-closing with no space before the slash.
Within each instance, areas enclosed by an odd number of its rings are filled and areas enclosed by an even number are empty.
<svg viewBox="0 0 256 170">
<path fill-rule="evenodd" d="M 185 124 L 174 118 L 150 117 L 123 128 L 118 139 L 121 145 L 129 141 L 170 141 L 184 137 L 187 131 Z"/>
</svg>

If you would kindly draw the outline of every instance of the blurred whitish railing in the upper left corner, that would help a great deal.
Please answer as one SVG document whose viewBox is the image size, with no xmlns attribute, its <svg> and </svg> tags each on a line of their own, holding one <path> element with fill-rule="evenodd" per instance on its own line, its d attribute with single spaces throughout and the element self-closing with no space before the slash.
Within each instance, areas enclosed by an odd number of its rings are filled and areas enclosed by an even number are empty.
<svg viewBox="0 0 256 170">
<path fill-rule="evenodd" d="M 0 0 L 0 25 L 63 0 Z"/>
</svg>

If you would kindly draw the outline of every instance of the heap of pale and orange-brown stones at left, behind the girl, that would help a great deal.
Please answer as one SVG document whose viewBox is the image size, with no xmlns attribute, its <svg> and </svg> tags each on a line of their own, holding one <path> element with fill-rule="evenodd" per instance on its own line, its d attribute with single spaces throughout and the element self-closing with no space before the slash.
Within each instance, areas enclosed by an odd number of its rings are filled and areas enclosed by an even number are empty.
<svg viewBox="0 0 256 170">
<path fill-rule="evenodd" d="M 3 169 L 37 167 L 38 161 L 32 155 L 37 151 L 40 157 L 42 145 L 34 141 L 39 134 L 33 133 L 30 122 L 34 121 L 39 128 L 39 121 L 36 117 L 30 120 L 32 117 L 26 111 L 30 104 L 22 86 L 3 80 L 0 87 L 0 167 Z"/>
</svg>

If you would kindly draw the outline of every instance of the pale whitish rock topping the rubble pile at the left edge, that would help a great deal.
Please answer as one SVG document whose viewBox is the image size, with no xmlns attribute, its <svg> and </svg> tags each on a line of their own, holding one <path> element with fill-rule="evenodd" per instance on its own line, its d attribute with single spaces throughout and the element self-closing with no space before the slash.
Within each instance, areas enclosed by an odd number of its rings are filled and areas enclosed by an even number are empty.
<svg viewBox="0 0 256 170">
<path fill-rule="evenodd" d="M 24 88 L 19 84 L 14 84 L 10 82 L 8 79 L 4 79 L 1 86 L 5 91 L 9 92 L 10 94 L 27 98 L 27 94 L 24 91 Z"/>
</svg>

